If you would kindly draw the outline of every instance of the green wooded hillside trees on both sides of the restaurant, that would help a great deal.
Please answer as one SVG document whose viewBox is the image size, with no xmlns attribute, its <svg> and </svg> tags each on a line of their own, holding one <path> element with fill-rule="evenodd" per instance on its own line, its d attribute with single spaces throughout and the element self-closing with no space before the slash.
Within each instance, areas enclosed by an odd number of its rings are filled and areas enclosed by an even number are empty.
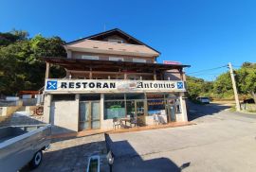
<svg viewBox="0 0 256 172">
<path fill-rule="evenodd" d="M 42 57 L 66 57 L 64 41 L 60 37 L 46 38 L 36 35 L 29 38 L 27 31 L 0 32 L 0 97 L 17 95 L 19 91 L 36 91 L 44 86 L 46 63 Z M 245 62 L 235 70 L 241 98 L 256 100 L 256 63 Z M 50 77 L 64 77 L 62 67 L 52 66 Z M 210 96 L 215 99 L 233 99 L 229 72 L 214 81 L 187 76 L 188 95 Z M 256 102 L 256 101 L 255 101 Z"/>
</svg>

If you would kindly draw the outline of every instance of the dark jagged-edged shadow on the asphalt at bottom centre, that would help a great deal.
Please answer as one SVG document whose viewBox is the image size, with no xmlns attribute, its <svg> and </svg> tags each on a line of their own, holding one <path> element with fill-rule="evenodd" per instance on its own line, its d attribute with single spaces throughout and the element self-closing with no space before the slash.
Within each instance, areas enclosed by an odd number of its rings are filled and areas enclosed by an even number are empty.
<svg viewBox="0 0 256 172">
<path fill-rule="evenodd" d="M 177 166 L 169 158 L 161 157 L 150 160 L 143 160 L 135 148 L 126 140 L 113 142 L 108 134 L 105 134 L 107 150 L 111 150 L 114 156 L 114 172 L 179 172 L 190 166 L 190 163 L 184 163 Z"/>
</svg>

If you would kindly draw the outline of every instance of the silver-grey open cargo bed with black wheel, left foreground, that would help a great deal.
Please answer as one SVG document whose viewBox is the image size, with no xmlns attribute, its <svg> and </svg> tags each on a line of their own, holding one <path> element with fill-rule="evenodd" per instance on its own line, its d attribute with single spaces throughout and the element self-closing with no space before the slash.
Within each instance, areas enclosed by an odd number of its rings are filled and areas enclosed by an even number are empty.
<svg viewBox="0 0 256 172">
<path fill-rule="evenodd" d="M 50 125 L 0 128 L 0 171 L 18 171 L 29 163 L 36 168 L 43 160 L 42 150 L 50 145 Z"/>
</svg>

